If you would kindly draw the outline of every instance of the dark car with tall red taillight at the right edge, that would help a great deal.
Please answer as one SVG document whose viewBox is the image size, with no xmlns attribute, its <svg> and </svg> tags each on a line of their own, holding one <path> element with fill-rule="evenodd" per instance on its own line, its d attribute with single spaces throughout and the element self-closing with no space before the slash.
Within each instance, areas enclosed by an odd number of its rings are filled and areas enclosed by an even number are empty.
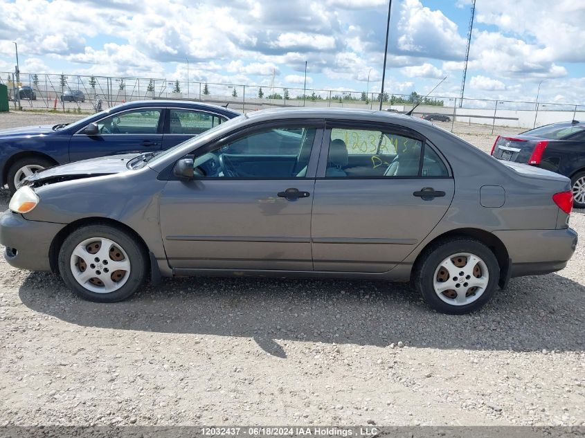
<svg viewBox="0 0 585 438">
<path fill-rule="evenodd" d="M 584 122 L 552 123 L 514 136 L 498 136 L 492 156 L 568 176 L 575 207 L 585 208 Z"/>
</svg>

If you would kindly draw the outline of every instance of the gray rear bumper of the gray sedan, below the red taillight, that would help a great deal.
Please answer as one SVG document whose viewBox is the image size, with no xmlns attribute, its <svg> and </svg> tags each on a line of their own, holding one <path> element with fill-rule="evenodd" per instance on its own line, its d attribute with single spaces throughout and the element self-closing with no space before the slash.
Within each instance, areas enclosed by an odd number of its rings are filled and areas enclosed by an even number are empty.
<svg viewBox="0 0 585 438">
<path fill-rule="evenodd" d="M 577 232 L 559 230 L 494 231 L 512 260 L 511 277 L 548 274 L 563 269 L 577 246 Z"/>
</svg>

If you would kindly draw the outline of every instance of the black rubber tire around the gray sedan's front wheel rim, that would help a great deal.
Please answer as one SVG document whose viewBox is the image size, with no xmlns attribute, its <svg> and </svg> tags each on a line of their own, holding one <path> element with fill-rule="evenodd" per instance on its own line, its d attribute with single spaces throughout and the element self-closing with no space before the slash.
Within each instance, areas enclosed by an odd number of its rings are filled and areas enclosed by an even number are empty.
<svg viewBox="0 0 585 438">
<path fill-rule="evenodd" d="M 116 291 L 109 293 L 90 291 L 75 280 L 71 272 L 71 255 L 73 251 L 84 240 L 93 237 L 114 241 L 127 254 L 130 263 L 130 273 L 125 284 Z M 89 266 L 87 268 L 89 269 Z M 93 302 L 118 302 L 129 298 L 145 282 L 148 273 L 148 264 L 145 251 L 141 244 L 136 241 L 136 237 L 113 226 L 96 224 L 78 228 L 65 239 L 59 252 L 59 272 L 65 284 L 81 298 Z"/>
</svg>

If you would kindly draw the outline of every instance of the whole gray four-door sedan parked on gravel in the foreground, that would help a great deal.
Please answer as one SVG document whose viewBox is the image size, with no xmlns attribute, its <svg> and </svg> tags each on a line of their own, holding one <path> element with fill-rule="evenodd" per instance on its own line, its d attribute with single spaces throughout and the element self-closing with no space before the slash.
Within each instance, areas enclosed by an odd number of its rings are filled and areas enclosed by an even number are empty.
<svg viewBox="0 0 585 438">
<path fill-rule="evenodd" d="M 240 116 L 164 152 L 38 172 L 0 218 L 12 266 L 115 302 L 148 277 L 412 282 L 441 312 L 510 277 L 564 268 L 570 181 L 502 163 L 418 118 L 289 109 Z"/>
</svg>

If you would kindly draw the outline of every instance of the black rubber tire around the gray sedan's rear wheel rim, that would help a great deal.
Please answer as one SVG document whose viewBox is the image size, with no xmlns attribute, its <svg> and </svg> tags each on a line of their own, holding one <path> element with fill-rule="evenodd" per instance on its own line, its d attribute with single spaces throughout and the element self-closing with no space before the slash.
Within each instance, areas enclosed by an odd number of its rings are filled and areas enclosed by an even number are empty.
<svg viewBox="0 0 585 438">
<path fill-rule="evenodd" d="M 458 253 L 471 253 L 480 257 L 485 263 L 487 273 L 489 274 L 485 290 L 479 298 L 469 304 L 448 304 L 439 298 L 433 286 L 435 271 L 441 266 L 442 261 Z M 475 239 L 456 237 L 438 241 L 430 248 L 424 250 L 420 263 L 415 267 L 413 283 L 418 291 L 420 291 L 426 304 L 429 304 L 430 307 L 441 313 L 461 315 L 481 309 L 494 295 L 499 277 L 500 266 L 492 250 Z M 446 299 L 448 300 L 449 298 Z"/>
</svg>

